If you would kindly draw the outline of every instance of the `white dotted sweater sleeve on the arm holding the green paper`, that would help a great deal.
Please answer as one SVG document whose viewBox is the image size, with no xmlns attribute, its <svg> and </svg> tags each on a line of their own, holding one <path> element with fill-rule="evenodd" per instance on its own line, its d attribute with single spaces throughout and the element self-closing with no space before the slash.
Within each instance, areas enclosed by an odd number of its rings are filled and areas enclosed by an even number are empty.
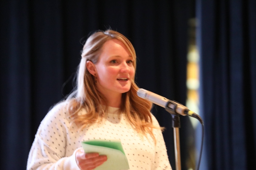
<svg viewBox="0 0 256 170">
<path fill-rule="evenodd" d="M 55 106 L 41 122 L 32 144 L 27 170 L 79 170 L 75 161 L 76 149 L 66 155 L 68 121 L 63 104 Z"/>
</svg>

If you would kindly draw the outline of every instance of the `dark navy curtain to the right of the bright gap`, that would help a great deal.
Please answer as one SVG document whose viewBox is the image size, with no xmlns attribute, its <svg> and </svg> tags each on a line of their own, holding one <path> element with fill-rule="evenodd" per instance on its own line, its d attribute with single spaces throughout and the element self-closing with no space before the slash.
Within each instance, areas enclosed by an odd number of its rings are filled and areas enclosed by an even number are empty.
<svg viewBox="0 0 256 170">
<path fill-rule="evenodd" d="M 256 167 L 256 1 L 197 1 L 203 169 Z"/>
</svg>

